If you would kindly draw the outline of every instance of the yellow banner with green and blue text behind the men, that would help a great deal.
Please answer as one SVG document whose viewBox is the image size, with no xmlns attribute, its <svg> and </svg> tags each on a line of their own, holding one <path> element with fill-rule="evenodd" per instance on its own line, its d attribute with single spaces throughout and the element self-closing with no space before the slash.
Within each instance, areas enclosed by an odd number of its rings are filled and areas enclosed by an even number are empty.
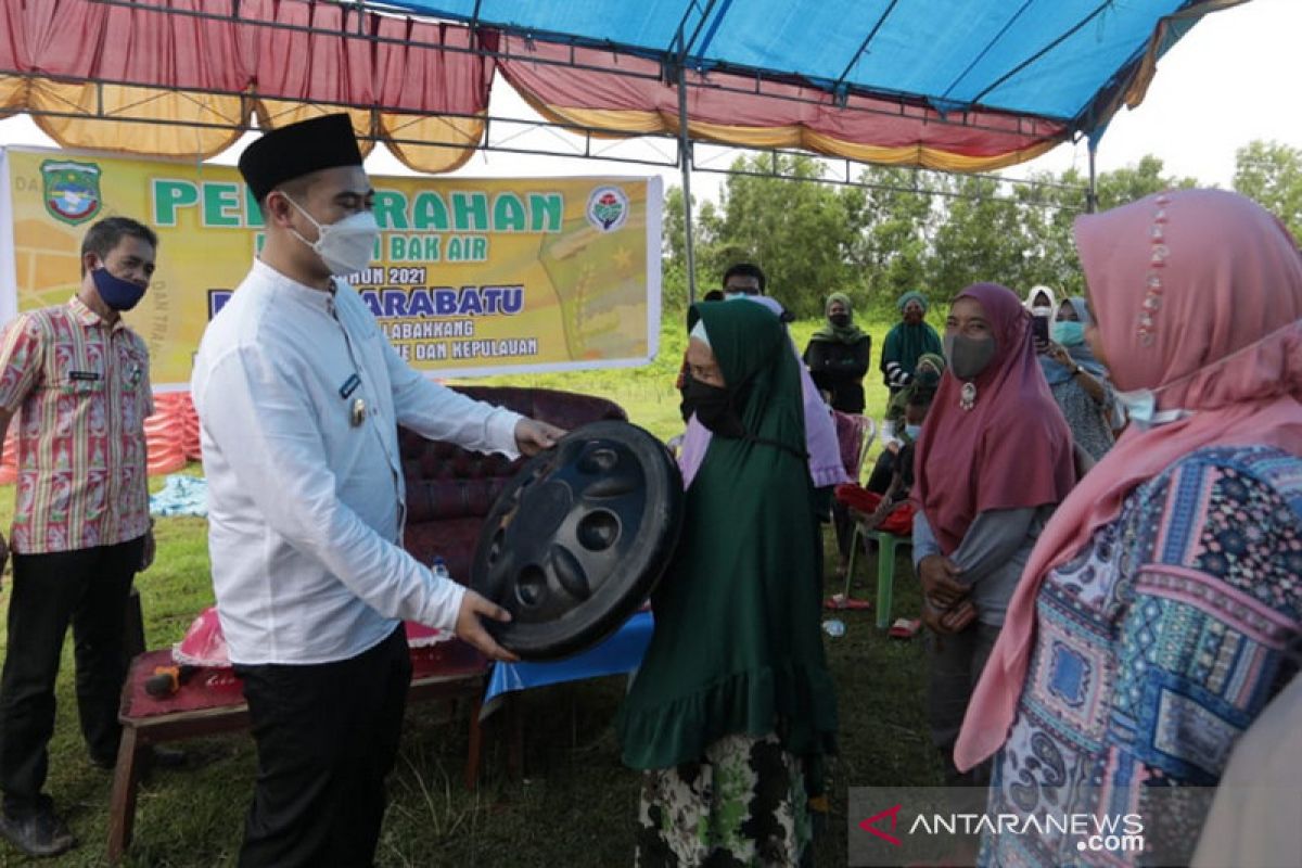
<svg viewBox="0 0 1302 868">
<path fill-rule="evenodd" d="M 0 320 L 68 301 L 95 220 L 159 234 L 126 321 L 156 387 L 187 388 L 208 320 L 263 241 L 233 167 L 46 148 L 0 152 Z M 381 237 L 350 281 L 430 376 L 644 364 L 660 323 L 660 180 L 372 176 Z"/>
</svg>

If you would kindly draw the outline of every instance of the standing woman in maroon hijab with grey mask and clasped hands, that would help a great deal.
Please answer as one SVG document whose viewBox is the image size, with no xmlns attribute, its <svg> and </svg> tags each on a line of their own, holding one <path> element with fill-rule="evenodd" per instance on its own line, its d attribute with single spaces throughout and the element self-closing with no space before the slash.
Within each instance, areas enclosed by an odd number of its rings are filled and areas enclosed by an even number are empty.
<svg viewBox="0 0 1302 868">
<path fill-rule="evenodd" d="M 974 284 L 945 321 L 949 367 L 917 446 L 914 565 L 931 629 L 927 716 L 952 783 L 953 746 L 1004 612 L 1055 506 L 1075 481 L 1072 432 L 1049 393 L 1030 316 Z"/>
</svg>

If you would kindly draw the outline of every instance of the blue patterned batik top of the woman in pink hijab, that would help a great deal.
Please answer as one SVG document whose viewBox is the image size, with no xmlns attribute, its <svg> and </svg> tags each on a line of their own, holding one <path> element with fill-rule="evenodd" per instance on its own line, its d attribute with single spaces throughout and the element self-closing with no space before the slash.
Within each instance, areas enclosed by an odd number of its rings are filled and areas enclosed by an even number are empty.
<svg viewBox="0 0 1302 868">
<path fill-rule="evenodd" d="M 1295 673 L 1299 639 L 1302 458 L 1191 453 L 1046 578 L 987 812 L 1134 812 L 1146 847 L 1189 864 L 1207 804 L 1173 811 L 1163 800 L 1173 793 L 1156 787 L 1217 783 L 1234 742 Z M 1144 852 L 1079 845 L 1053 830 L 987 834 L 980 864 L 1147 864 Z"/>
</svg>

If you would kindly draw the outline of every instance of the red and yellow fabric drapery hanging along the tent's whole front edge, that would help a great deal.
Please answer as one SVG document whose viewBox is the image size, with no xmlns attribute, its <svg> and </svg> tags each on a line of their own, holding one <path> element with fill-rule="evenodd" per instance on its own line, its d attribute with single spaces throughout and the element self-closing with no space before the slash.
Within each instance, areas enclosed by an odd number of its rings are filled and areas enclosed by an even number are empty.
<svg viewBox="0 0 1302 868">
<path fill-rule="evenodd" d="M 497 68 L 553 121 L 604 135 L 678 131 L 677 88 L 655 60 L 337 4 L 8 0 L 0 22 L 0 112 L 33 111 L 65 146 L 206 157 L 254 112 L 281 126 L 348 111 L 359 135 L 385 141 L 408 165 L 449 170 L 483 137 Z M 639 75 L 621 74 L 630 72 Z M 973 172 L 1031 159 L 1068 135 L 1043 118 L 945 117 L 863 95 L 841 104 L 733 73 L 687 73 L 687 87 L 691 135 L 745 147 Z"/>
</svg>

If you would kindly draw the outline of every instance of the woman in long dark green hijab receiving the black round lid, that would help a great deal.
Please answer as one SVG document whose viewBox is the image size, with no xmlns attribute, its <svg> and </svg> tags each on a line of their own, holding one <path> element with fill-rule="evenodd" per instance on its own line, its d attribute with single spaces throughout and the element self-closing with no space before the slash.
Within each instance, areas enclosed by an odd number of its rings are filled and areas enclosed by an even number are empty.
<svg viewBox="0 0 1302 868">
<path fill-rule="evenodd" d="M 638 864 L 796 865 L 805 776 L 836 731 L 799 367 L 759 305 L 694 305 L 687 323 L 686 394 L 712 433 L 684 455 L 699 463 L 682 539 L 617 721 L 624 763 L 646 770 Z"/>
</svg>

